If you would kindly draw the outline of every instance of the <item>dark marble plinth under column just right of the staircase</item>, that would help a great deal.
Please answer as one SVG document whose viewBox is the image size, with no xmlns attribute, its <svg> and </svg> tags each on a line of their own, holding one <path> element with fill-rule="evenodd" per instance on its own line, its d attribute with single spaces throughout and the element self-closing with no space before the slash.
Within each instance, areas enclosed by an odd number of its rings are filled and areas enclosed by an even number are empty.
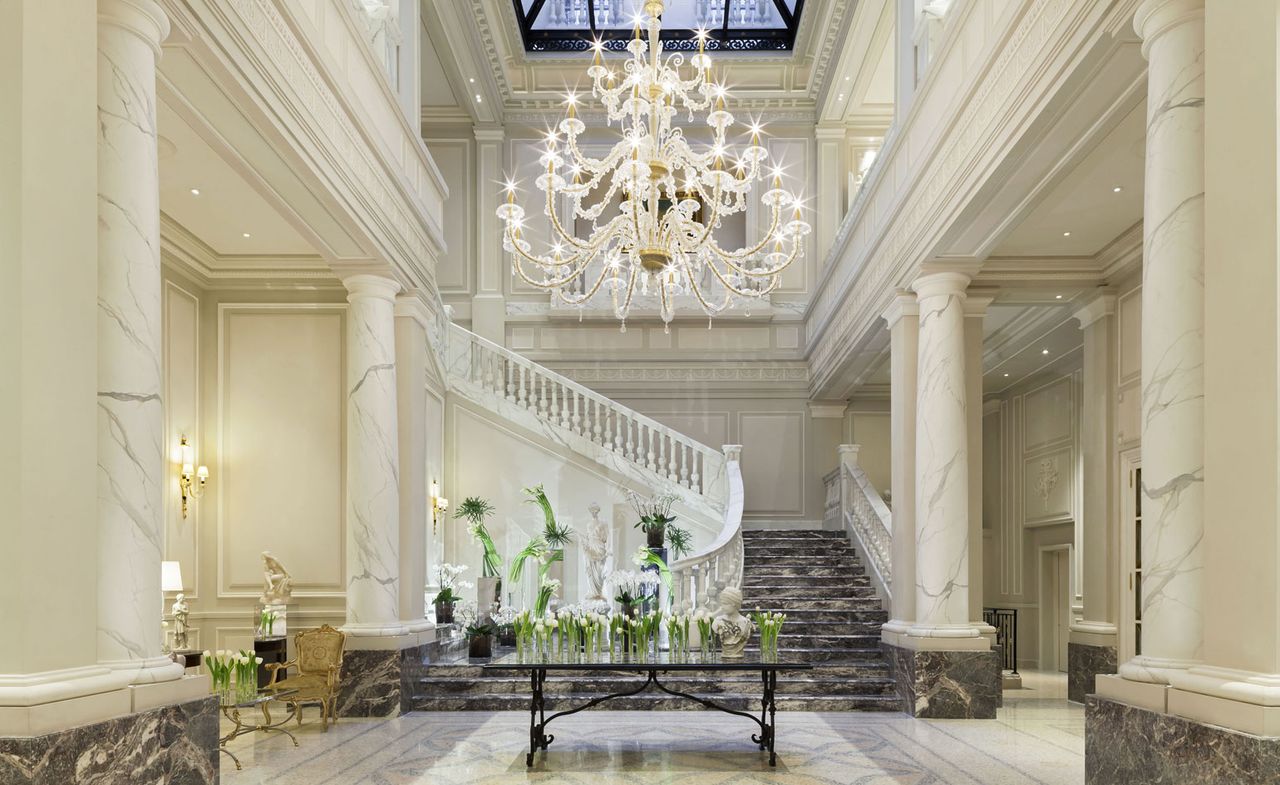
<svg viewBox="0 0 1280 785">
<path fill-rule="evenodd" d="M 882 643 L 902 711 L 928 720 L 993 720 L 1001 706 L 1000 653 L 918 652 Z"/>
</svg>

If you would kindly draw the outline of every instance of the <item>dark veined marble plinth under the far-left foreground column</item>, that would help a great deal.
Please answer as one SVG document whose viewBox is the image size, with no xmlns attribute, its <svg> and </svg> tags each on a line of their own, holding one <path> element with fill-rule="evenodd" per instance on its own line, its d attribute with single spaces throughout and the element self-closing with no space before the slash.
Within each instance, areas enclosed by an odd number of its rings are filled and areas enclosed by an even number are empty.
<svg viewBox="0 0 1280 785">
<path fill-rule="evenodd" d="M 212 785 L 218 699 L 209 697 L 45 736 L 0 739 L 0 785 Z"/>
</svg>

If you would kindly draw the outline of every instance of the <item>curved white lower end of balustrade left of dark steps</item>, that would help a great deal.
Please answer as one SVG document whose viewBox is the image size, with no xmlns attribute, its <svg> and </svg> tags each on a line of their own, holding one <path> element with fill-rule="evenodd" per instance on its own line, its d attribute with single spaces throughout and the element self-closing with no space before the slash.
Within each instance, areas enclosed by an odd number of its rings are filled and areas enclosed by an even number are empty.
<svg viewBox="0 0 1280 785">
<path fill-rule="evenodd" d="M 724 525 L 710 546 L 671 563 L 672 603 L 685 611 L 712 608 L 727 587 L 742 587 L 741 444 L 724 446 Z"/>
</svg>

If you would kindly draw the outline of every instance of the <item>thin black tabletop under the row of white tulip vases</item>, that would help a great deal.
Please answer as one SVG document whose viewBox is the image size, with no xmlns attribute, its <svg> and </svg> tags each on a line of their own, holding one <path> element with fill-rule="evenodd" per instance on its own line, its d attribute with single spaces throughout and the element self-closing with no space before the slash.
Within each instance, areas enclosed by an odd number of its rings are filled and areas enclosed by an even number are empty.
<svg viewBox="0 0 1280 785">
<path fill-rule="evenodd" d="M 703 654 L 690 652 L 687 654 L 584 654 L 567 652 L 564 654 L 507 654 L 493 662 L 484 665 L 485 670 L 494 671 L 522 671 L 522 670 L 556 670 L 556 671 L 808 671 L 813 665 L 796 657 L 782 654 L 769 654 L 762 657 L 759 652 L 748 652 L 741 657 L 723 657 L 719 652 Z"/>
</svg>

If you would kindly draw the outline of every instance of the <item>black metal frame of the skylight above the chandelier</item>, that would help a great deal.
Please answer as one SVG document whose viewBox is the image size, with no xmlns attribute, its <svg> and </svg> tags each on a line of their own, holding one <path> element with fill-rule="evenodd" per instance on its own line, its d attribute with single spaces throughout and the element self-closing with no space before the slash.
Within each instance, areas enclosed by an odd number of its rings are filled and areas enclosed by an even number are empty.
<svg viewBox="0 0 1280 785">
<path fill-rule="evenodd" d="M 719 27 L 708 29 L 707 51 L 791 51 L 796 42 L 796 29 L 800 27 L 800 14 L 804 0 L 796 0 L 792 12 L 782 0 L 772 0 L 785 27 L 774 28 L 735 28 L 730 23 L 732 3 L 724 3 L 724 17 Z M 604 44 L 608 51 L 626 51 L 627 42 L 634 36 L 631 29 L 596 28 L 595 1 L 586 0 L 590 29 L 534 29 L 538 14 L 547 0 L 532 0 L 529 13 L 525 13 L 521 0 L 512 0 L 516 8 L 516 23 L 525 51 L 586 51 L 595 38 Z M 662 29 L 663 49 L 668 51 L 695 51 L 696 32 L 691 29 Z"/>
</svg>

